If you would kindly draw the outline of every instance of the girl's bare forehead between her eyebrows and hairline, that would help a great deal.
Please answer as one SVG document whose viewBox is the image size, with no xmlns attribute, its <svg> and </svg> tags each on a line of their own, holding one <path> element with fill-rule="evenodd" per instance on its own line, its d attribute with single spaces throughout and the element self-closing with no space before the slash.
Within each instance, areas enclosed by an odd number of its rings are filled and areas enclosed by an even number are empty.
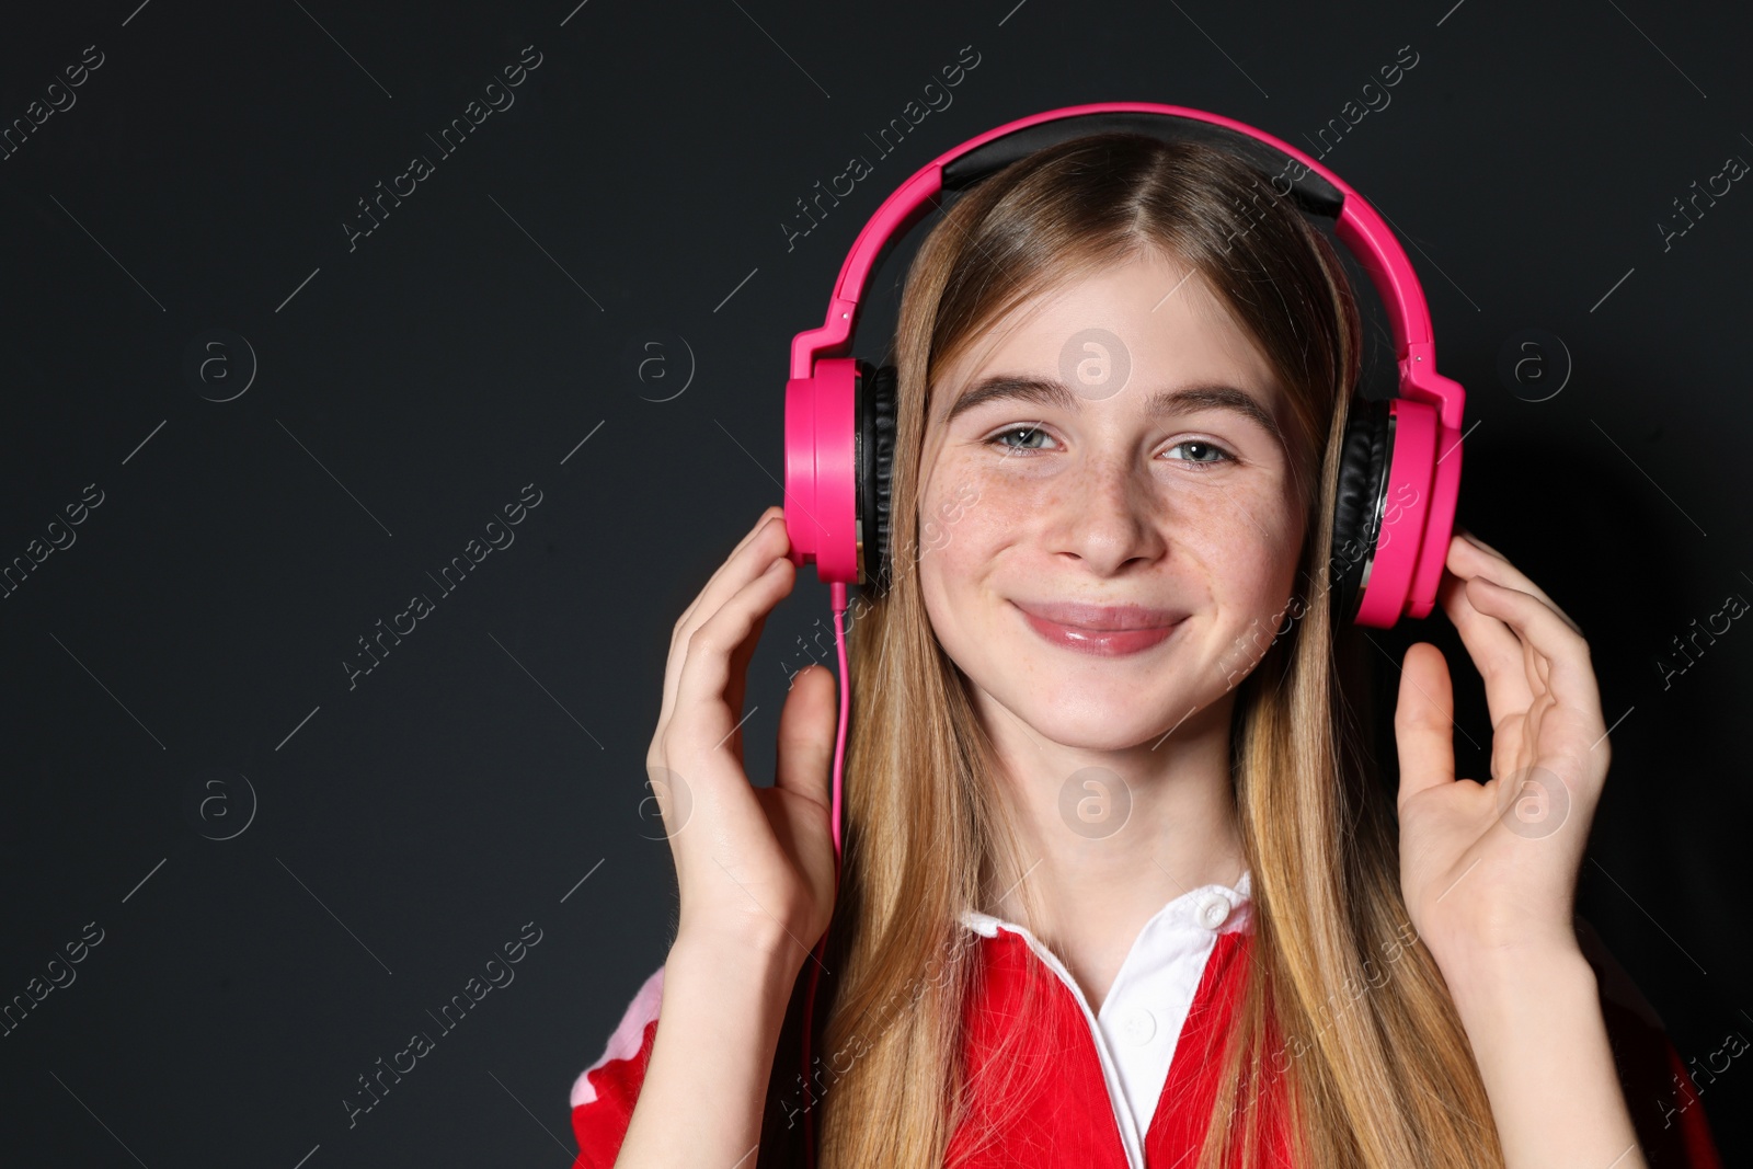
<svg viewBox="0 0 1753 1169">
<path fill-rule="evenodd" d="M 1206 279 L 1148 254 L 1055 282 L 985 326 L 936 379 L 933 415 L 987 372 L 1059 375 L 1092 356 L 1124 361 L 1129 384 L 1229 382 L 1276 410 L 1271 365 Z"/>
</svg>

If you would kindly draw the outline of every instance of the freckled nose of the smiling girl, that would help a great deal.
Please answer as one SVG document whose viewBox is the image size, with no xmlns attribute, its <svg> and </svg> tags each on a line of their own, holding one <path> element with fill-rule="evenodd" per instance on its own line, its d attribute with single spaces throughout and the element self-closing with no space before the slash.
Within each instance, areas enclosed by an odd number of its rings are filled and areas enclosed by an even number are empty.
<svg viewBox="0 0 1753 1169">
<path fill-rule="evenodd" d="M 1166 550 L 1150 468 L 1131 450 L 1089 456 L 1057 496 L 1052 550 L 1075 556 L 1099 577 Z"/>
</svg>

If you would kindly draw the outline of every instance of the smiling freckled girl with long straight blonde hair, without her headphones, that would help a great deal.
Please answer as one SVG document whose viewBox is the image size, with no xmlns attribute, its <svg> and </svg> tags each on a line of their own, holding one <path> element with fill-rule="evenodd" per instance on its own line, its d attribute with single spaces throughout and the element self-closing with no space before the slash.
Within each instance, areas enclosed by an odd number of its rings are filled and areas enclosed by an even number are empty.
<svg viewBox="0 0 1753 1169">
<path fill-rule="evenodd" d="M 775 783 L 742 764 L 808 522 L 773 507 L 675 624 L 647 764 L 680 924 L 578 1080 L 580 1167 L 803 1164 L 805 1132 L 833 1169 L 1716 1164 L 1572 924 L 1611 759 L 1588 643 L 1467 535 L 1439 603 L 1490 776 L 1455 776 L 1416 643 L 1376 778 L 1378 650 L 1327 585 L 1359 310 L 1260 195 L 1224 151 L 1094 135 L 924 240 L 838 889 L 829 670 L 792 680 Z"/>
</svg>

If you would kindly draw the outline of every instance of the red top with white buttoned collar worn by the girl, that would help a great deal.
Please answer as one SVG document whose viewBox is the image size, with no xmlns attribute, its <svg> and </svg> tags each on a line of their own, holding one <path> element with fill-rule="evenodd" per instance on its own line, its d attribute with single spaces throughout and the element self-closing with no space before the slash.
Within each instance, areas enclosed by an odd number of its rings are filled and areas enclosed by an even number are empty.
<svg viewBox="0 0 1753 1169">
<path fill-rule="evenodd" d="M 1027 1050 L 1018 1057 L 1011 1048 L 1008 1059 L 1038 1060 L 1045 1074 L 1020 1069 L 1017 1083 L 1034 1085 L 1022 1108 L 1015 1108 L 1018 1101 L 976 1094 L 971 1115 L 950 1137 L 945 1164 L 957 1169 L 1194 1164 L 1211 1115 L 1224 1038 L 1248 969 L 1253 941 L 1248 889 L 1243 875 L 1234 889 L 1203 885 L 1162 906 L 1145 922 L 1099 1011 L 1089 1008 L 1059 957 L 1026 927 L 964 913 L 962 924 L 980 938 L 982 964 L 978 994 L 964 1015 L 969 1083 L 982 1081 L 987 1053 L 999 1038 L 1015 1032 L 1024 981 L 1043 974 L 1048 994 L 1036 1010 L 1045 1015 L 1031 1017 Z M 1620 1080 L 1651 1169 L 1720 1169 L 1697 1092 L 1660 1022 L 1622 971 L 1597 964 L 1597 976 Z M 578 1139 L 573 1169 L 614 1165 L 650 1059 L 661 1003 L 663 967 L 657 967 L 633 995 L 603 1055 L 573 1083 L 571 1125 Z M 1276 1060 L 1278 1067 L 1283 1064 Z M 1271 1102 L 1271 1085 L 1266 1094 Z M 1283 1116 L 1281 1106 L 1271 1111 Z M 996 1139 L 976 1148 L 973 1136 L 989 1127 L 982 1122 L 997 1115 L 1006 1120 Z M 1292 1165 L 1288 1148 L 1288 1132 L 1276 1122 L 1267 1164 Z"/>
</svg>

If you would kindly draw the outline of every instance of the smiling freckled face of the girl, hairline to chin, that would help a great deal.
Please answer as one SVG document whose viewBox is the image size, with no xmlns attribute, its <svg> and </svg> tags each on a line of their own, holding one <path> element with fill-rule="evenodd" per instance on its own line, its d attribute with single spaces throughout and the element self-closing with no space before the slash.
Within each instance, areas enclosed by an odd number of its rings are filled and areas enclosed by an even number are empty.
<svg viewBox="0 0 1753 1169">
<path fill-rule="evenodd" d="M 1287 620 L 1292 426 L 1252 340 L 1162 258 L 1020 305 L 945 370 L 917 571 L 982 713 L 1122 750 L 1225 699 Z"/>
</svg>

